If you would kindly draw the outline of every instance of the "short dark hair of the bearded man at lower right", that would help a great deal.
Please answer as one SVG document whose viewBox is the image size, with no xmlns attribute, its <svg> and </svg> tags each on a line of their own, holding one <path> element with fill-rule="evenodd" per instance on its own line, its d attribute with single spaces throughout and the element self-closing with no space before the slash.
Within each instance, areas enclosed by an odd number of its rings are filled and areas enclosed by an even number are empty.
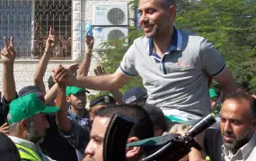
<svg viewBox="0 0 256 161">
<path fill-rule="evenodd" d="M 252 114 L 252 119 L 256 118 L 256 99 L 255 97 L 252 97 L 251 95 L 243 92 L 243 91 L 238 91 L 231 93 L 225 97 L 225 100 L 231 99 L 236 101 L 237 103 L 242 103 L 243 100 L 247 100 L 250 102 L 250 108 L 251 108 L 251 114 Z"/>
</svg>

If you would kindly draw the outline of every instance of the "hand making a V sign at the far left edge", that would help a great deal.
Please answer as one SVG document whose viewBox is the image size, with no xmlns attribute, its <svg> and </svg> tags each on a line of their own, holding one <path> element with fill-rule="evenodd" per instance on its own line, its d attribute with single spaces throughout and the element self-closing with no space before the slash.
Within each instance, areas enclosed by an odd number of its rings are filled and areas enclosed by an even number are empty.
<svg viewBox="0 0 256 161">
<path fill-rule="evenodd" d="M 7 37 L 4 37 L 4 49 L 1 50 L 1 59 L 3 64 L 13 64 L 16 52 L 14 49 L 13 37 L 10 38 L 10 45 Z"/>
</svg>

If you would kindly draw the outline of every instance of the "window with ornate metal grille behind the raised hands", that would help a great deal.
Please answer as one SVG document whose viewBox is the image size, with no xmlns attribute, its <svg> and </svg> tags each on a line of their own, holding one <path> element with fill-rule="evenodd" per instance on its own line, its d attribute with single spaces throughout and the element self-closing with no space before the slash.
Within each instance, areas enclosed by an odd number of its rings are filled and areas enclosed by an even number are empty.
<svg viewBox="0 0 256 161">
<path fill-rule="evenodd" d="M 17 57 L 40 58 L 49 28 L 57 35 L 52 57 L 71 58 L 72 0 L 0 0 L 0 46 L 14 37 Z"/>
</svg>

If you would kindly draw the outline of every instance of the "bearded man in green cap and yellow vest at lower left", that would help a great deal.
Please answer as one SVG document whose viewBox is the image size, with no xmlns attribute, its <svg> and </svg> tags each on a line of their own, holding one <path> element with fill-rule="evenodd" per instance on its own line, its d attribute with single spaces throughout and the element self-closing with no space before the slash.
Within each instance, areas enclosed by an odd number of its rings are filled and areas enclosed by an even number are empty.
<svg viewBox="0 0 256 161">
<path fill-rule="evenodd" d="M 44 106 L 33 93 L 12 101 L 7 115 L 9 137 L 18 148 L 22 160 L 52 160 L 42 153 L 38 143 L 43 140 L 49 128 L 46 114 L 57 111 L 59 107 Z"/>
</svg>

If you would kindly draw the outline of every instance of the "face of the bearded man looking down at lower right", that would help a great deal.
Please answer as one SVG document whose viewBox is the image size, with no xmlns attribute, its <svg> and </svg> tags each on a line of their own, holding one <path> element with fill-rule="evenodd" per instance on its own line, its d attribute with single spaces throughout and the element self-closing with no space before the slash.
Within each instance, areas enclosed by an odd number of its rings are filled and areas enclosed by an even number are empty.
<svg viewBox="0 0 256 161">
<path fill-rule="evenodd" d="M 235 151 L 243 147 L 255 130 L 252 122 L 249 101 L 225 100 L 221 108 L 220 123 L 225 148 Z"/>
</svg>

